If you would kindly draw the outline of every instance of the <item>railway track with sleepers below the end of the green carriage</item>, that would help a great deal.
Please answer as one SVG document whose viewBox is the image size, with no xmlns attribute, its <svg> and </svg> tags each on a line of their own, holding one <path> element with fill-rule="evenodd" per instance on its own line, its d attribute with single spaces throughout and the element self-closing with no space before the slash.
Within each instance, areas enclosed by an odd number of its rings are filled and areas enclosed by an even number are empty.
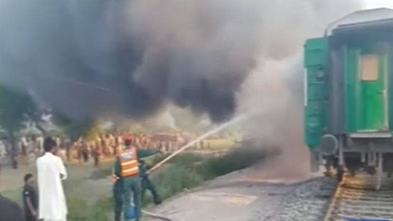
<svg viewBox="0 0 393 221">
<path fill-rule="evenodd" d="M 393 221 L 393 178 L 382 177 L 378 191 L 376 185 L 375 176 L 345 175 L 337 185 L 324 221 Z"/>
</svg>

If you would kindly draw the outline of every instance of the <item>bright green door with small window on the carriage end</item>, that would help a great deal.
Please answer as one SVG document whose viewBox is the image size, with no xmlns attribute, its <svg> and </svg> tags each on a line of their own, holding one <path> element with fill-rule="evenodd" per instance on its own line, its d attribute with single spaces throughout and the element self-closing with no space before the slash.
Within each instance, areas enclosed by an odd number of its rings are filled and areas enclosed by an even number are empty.
<svg viewBox="0 0 393 221">
<path fill-rule="evenodd" d="M 387 65 L 384 53 L 359 53 L 359 131 L 388 130 Z"/>
</svg>

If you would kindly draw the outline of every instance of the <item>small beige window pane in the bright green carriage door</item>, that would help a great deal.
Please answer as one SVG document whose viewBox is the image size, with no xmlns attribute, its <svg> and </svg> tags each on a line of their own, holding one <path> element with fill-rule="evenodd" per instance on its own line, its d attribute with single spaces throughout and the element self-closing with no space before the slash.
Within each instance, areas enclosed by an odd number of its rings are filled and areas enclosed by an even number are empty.
<svg viewBox="0 0 393 221">
<path fill-rule="evenodd" d="M 378 54 L 361 55 L 360 77 L 365 81 L 378 80 Z"/>
</svg>

